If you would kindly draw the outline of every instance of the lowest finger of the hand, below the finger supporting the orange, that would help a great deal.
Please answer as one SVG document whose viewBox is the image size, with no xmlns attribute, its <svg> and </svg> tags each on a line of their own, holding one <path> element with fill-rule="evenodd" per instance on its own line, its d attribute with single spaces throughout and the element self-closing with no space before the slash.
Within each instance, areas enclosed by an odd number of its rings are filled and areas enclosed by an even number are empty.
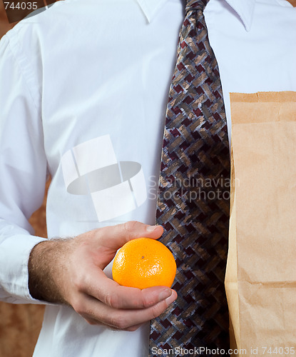
<svg viewBox="0 0 296 357">
<path fill-rule="evenodd" d="M 141 324 L 163 313 L 176 298 L 177 293 L 173 291 L 171 296 L 149 308 L 116 309 L 95 298 L 88 297 L 86 298 L 86 307 L 77 312 L 92 324 L 97 323 L 120 330 L 135 331 Z"/>
</svg>

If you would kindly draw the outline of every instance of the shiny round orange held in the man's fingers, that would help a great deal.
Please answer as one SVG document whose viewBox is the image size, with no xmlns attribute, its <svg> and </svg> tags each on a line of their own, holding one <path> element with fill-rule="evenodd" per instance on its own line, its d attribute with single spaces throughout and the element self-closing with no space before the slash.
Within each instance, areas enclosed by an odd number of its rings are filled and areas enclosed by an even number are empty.
<svg viewBox="0 0 296 357">
<path fill-rule="evenodd" d="M 132 288 L 172 286 L 177 267 L 170 250 L 160 241 L 136 238 L 124 244 L 113 261 L 113 280 Z"/>
</svg>

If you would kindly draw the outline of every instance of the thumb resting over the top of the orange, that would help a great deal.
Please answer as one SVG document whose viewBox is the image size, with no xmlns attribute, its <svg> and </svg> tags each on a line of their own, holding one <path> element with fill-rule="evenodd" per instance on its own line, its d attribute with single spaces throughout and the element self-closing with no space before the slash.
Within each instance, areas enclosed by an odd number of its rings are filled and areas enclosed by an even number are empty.
<svg viewBox="0 0 296 357">
<path fill-rule="evenodd" d="M 100 241 L 103 246 L 117 250 L 132 239 L 141 237 L 158 239 L 162 234 L 162 226 L 149 226 L 138 221 L 128 221 L 116 226 L 100 228 Z"/>
</svg>

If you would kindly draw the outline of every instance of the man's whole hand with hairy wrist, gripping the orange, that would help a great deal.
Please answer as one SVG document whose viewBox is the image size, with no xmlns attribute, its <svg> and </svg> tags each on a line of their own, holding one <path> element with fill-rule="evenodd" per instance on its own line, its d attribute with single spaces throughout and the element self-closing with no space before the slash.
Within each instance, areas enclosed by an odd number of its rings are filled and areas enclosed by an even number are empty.
<svg viewBox="0 0 296 357">
<path fill-rule="evenodd" d="M 31 296 L 72 306 L 88 323 L 135 331 L 163 313 L 177 293 L 164 286 L 120 286 L 103 269 L 127 241 L 141 236 L 157 239 L 162 233 L 161 226 L 130 221 L 39 243 L 29 259 Z"/>
</svg>

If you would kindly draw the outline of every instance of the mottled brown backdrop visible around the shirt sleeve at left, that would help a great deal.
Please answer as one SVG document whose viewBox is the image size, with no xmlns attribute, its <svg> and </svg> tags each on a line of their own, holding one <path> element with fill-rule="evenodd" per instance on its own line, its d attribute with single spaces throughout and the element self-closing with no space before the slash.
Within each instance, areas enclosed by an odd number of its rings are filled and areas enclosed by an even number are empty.
<svg viewBox="0 0 296 357">
<path fill-rule="evenodd" d="M 47 4 L 54 1 L 47 1 Z M 9 1 L 10 4 L 12 2 Z M 39 6 L 46 5 L 43 0 L 39 1 L 38 4 Z M 4 1 L 0 0 L 0 39 L 17 24 L 17 21 L 28 15 L 28 11 L 16 13 L 12 10 L 7 13 L 4 9 Z M 12 22 L 11 20 L 16 21 Z M 0 83 L 0 86 L 2 85 Z M 50 181 L 46 183 L 46 193 L 49 183 Z M 30 223 L 37 236 L 46 237 L 45 212 L 46 195 L 41 208 L 30 218 Z M 31 357 L 39 336 L 43 315 L 44 306 L 41 305 L 16 305 L 0 301 L 0 357 Z"/>
</svg>

